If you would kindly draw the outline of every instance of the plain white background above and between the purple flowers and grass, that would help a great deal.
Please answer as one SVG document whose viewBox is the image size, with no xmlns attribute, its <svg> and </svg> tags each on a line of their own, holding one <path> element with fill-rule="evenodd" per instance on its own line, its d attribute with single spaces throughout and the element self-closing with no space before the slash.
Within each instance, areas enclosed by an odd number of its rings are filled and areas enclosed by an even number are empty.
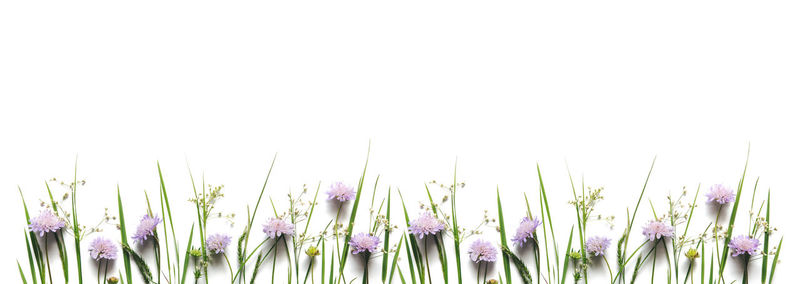
<svg viewBox="0 0 800 284">
<path fill-rule="evenodd" d="M 17 186 L 36 207 L 43 181 L 70 179 L 76 155 L 84 223 L 115 210 L 117 184 L 128 214 L 143 214 L 160 161 L 181 232 L 193 220 L 187 162 L 226 186 L 219 208 L 239 214 L 233 232 L 275 153 L 276 199 L 355 183 L 370 140 L 368 179 L 380 174 L 380 188 L 412 202 L 425 200 L 424 182 L 451 179 L 457 158 L 461 222 L 495 214 L 499 186 L 512 230 L 538 162 L 563 248 L 567 164 L 606 188 L 598 210 L 617 230 L 590 231 L 616 238 L 654 156 L 646 196 L 663 212 L 682 186 L 735 186 L 751 143 L 745 192 L 755 177 L 759 200 L 772 189 L 783 283 L 797 265 L 799 12 L 791 1 L 4 2 L 0 208 L 11 249 L 0 267 L 13 275 L 27 261 Z M 605 276 L 599 263 L 593 273 Z M 84 274 L 94 279 L 94 267 Z"/>
</svg>

